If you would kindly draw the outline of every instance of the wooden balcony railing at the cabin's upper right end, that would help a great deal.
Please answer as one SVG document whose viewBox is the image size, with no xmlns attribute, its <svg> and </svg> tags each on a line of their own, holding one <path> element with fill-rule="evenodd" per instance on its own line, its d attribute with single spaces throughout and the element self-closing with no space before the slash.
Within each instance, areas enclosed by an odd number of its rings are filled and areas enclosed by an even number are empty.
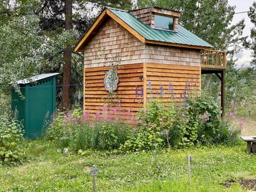
<svg viewBox="0 0 256 192">
<path fill-rule="evenodd" d="M 226 69 L 226 52 L 202 50 L 201 67 L 208 69 Z"/>
</svg>

